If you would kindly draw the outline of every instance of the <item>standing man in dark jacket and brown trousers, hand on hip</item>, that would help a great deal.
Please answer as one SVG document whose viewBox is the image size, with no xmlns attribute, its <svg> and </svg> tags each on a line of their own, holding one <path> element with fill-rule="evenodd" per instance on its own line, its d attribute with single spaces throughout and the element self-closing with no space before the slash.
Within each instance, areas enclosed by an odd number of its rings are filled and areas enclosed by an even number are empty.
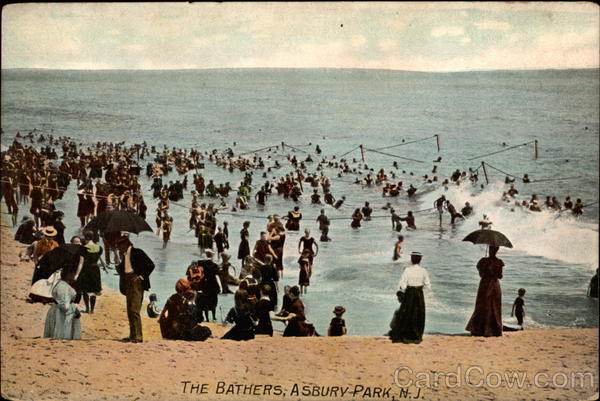
<svg viewBox="0 0 600 401">
<path fill-rule="evenodd" d="M 117 240 L 117 249 L 121 253 L 121 263 L 116 267 L 119 273 L 119 289 L 127 299 L 127 318 L 129 319 L 129 337 L 123 341 L 141 343 L 142 336 L 142 301 L 144 291 L 150 289 L 150 274 L 154 270 L 154 262 L 144 251 L 134 248 L 129 237 Z"/>
</svg>

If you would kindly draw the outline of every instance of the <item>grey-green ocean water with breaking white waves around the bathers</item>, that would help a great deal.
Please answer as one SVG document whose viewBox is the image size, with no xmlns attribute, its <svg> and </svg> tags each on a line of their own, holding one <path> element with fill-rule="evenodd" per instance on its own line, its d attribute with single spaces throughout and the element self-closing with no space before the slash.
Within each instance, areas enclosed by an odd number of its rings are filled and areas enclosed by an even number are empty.
<svg viewBox="0 0 600 401">
<path fill-rule="evenodd" d="M 369 168 L 389 170 L 398 161 L 398 176 L 405 185 L 419 188 L 417 198 L 383 198 L 379 188 L 351 184 L 353 176 L 332 181 L 336 198 L 345 195 L 346 207 L 326 208 L 332 220 L 329 243 L 320 243 L 308 294 L 303 296 L 307 316 L 317 331 L 325 334 L 336 305 L 343 305 L 349 335 L 382 335 L 387 332 L 402 269 L 410 263 L 411 251 L 424 254 L 422 265 L 431 276 L 432 292 L 426 295 L 428 333 L 462 333 L 473 311 L 479 276 L 475 265 L 485 248 L 462 242 L 478 228 L 485 213 L 493 227 L 505 233 L 513 249 L 501 248 L 505 263 L 501 281 L 503 316 L 514 323 L 510 308 L 518 288 L 525 288 L 529 327 L 598 327 L 598 301 L 586 297 L 590 278 L 598 267 L 598 133 L 599 70 L 490 71 L 461 73 L 416 73 L 379 70 L 328 69 L 223 69 L 182 71 L 52 71 L 2 70 L 2 144 L 10 144 L 17 131 L 36 128 L 44 133 L 66 135 L 87 144 L 96 141 L 148 142 L 201 151 L 232 147 L 248 152 L 285 142 L 294 146 L 300 159 L 318 144 L 326 156 L 342 155 L 358 145 L 366 148 L 408 143 L 382 150 L 388 155 L 366 152 Z M 434 135 L 439 135 L 438 152 Z M 429 138 L 429 139 L 426 139 Z M 532 144 L 494 155 L 480 155 L 538 140 L 538 158 Z M 234 142 L 236 143 L 234 146 Z M 503 146 L 503 143 L 506 145 Z M 284 160 L 280 153 L 262 152 L 267 165 Z M 399 157 L 394 157 L 394 156 Z M 520 198 L 537 194 L 581 198 L 585 214 L 511 211 L 499 201 L 505 190 L 504 174 L 488 168 L 490 184 L 451 186 L 423 183 L 432 162 L 441 156 L 438 176 L 455 169 L 490 166 L 521 177 L 528 173 L 531 184 L 516 186 Z M 317 159 L 317 156 L 312 156 Z M 347 158 L 360 162 L 354 150 Z M 402 157 L 402 158 L 400 158 Z M 411 160 L 407 160 L 411 159 Z M 289 164 L 273 170 L 269 179 L 290 171 Z M 314 166 L 316 163 L 312 164 Z M 356 165 L 356 164 L 355 164 Z M 402 174 L 402 170 L 406 173 Z M 206 163 L 202 170 L 215 183 L 236 186 L 240 172 L 229 173 Z M 412 175 L 411 175 L 412 173 Z M 193 172 L 188 173 L 190 182 Z M 255 183 L 264 181 L 255 172 Z M 565 178 L 563 180 L 563 178 Z M 163 181 L 183 179 L 173 172 Z M 484 182 L 480 170 L 479 184 Z M 154 227 L 155 205 L 143 176 L 148 222 Z M 188 189 L 192 189 L 190 185 Z M 374 215 L 391 202 L 401 213 L 432 207 L 445 194 L 457 208 L 469 201 L 474 216 L 454 227 L 444 216 L 440 229 L 437 214 L 417 213 L 416 231 L 403 230 L 404 256 L 392 261 L 397 233 L 389 218 L 364 222 L 350 228 L 354 208 L 369 201 Z M 189 205 L 189 192 L 182 203 Z M 232 202 L 230 196 L 228 203 Z M 57 208 L 65 211 L 67 236 L 79 231 L 72 184 Z M 219 215 L 219 225 L 229 222 L 230 253 L 237 255 L 239 230 L 251 221 L 251 241 L 264 230 L 264 216 L 287 214 L 294 205 L 273 195 L 267 206 L 235 215 Z M 310 205 L 308 195 L 299 204 L 304 219 L 301 228 L 318 238 L 315 221 L 321 207 Z M 152 292 L 162 305 L 174 292 L 175 282 L 200 254 L 188 232 L 188 210 L 171 206 L 174 218 L 172 241 L 162 250 L 156 234 L 134 236 L 156 262 Z M 298 280 L 299 234 L 288 233 L 283 285 Z M 233 260 L 239 272 L 239 261 Z M 103 274 L 105 286 L 117 288 L 117 277 Z M 224 317 L 233 304 L 232 295 L 219 296 L 217 317 Z M 98 301 L 102 308 L 102 298 Z M 85 324 L 85 322 L 84 322 Z M 275 328 L 283 329 L 280 323 Z"/>
</svg>

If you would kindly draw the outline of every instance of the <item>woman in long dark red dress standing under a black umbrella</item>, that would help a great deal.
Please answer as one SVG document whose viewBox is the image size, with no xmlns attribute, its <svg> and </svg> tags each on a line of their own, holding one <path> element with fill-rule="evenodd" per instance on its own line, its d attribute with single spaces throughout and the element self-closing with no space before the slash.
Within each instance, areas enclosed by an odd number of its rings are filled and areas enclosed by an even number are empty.
<svg viewBox="0 0 600 401">
<path fill-rule="evenodd" d="M 475 311 L 466 330 L 474 336 L 502 335 L 502 290 L 500 279 L 504 262 L 496 257 L 497 246 L 490 246 L 490 256 L 481 258 L 477 263 L 479 271 L 479 289 L 475 301 Z"/>
</svg>

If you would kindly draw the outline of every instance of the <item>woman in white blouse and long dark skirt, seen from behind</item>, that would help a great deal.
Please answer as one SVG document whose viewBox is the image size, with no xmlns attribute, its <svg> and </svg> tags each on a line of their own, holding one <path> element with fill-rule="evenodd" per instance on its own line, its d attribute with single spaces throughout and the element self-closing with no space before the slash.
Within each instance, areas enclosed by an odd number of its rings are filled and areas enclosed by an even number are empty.
<svg viewBox="0 0 600 401">
<path fill-rule="evenodd" d="M 389 337 L 392 342 L 419 344 L 425 329 L 425 297 L 423 287 L 431 289 L 429 274 L 419 264 L 423 255 L 413 252 L 410 255 L 412 265 L 402 273 L 398 286 L 400 308 L 394 312 L 390 323 Z"/>
</svg>

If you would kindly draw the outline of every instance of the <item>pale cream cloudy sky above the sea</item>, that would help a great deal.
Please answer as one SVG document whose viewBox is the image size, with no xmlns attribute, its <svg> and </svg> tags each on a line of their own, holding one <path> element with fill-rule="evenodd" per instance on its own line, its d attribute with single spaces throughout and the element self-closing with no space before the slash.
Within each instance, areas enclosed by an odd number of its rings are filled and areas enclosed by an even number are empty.
<svg viewBox="0 0 600 401">
<path fill-rule="evenodd" d="M 594 3 L 30 3 L 2 68 L 598 68 Z"/>
</svg>

